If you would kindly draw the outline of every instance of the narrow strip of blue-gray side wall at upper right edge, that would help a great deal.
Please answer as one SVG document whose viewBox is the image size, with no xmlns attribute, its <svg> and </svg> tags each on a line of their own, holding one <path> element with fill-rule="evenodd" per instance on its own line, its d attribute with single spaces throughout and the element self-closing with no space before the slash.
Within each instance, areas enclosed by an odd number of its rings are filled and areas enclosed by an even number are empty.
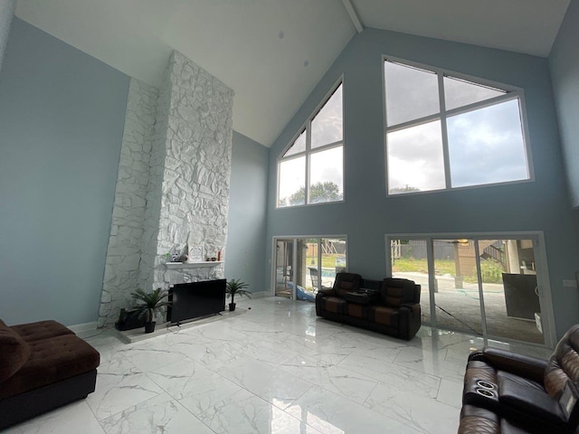
<svg viewBox="0 0 579 434">
<path fill-rule="evenodd" d="M 570 200 L 579 207 L 579 0 L 571 0 L 549 63 Z"/>
</svg>

